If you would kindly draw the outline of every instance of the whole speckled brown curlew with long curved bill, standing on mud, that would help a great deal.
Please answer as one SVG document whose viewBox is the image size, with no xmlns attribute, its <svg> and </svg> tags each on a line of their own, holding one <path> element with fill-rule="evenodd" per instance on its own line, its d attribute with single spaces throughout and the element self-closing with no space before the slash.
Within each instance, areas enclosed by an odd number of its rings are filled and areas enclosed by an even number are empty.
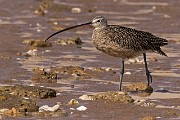
<svg viewBox="0 0 180 120">
<path fill-rule="evenodd" d="M 124 60 L 135 58 L 139 55 L 143 55 L 144 58 L 148 86 L 152 83 L 152 76 L 147 66 L 146 53 L 155 52 L 167 56 L 160 47 L 168 44 L 166 39 L 157 37 L 152 33 L 119 25 L 108 25 L 106 18 L 96 16 L 91 22 L 57 31 L 50 35 L 45 41 L 63 31 L 88 24 L 91 24 L 95 28 L 92 34 L 94 46 L 108 55 L 121 58 L 119 91 L 122 89 Z"/>
</svg>

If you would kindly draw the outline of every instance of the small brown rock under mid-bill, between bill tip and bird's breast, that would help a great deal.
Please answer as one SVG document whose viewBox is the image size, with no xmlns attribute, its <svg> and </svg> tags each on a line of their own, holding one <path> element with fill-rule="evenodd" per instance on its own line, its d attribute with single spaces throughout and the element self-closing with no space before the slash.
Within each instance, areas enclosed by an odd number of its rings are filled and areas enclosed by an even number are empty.
<svg viewBox="0 0 180 120">
<path fill-rule="evenodd" d="M 60 39 L 57 41 L 57 43 L 59 45 L 72 45 L 72 44 L 81 45 L 82 41 L 79 37 L 72 37 L 68 39 Z"/>
</svg>

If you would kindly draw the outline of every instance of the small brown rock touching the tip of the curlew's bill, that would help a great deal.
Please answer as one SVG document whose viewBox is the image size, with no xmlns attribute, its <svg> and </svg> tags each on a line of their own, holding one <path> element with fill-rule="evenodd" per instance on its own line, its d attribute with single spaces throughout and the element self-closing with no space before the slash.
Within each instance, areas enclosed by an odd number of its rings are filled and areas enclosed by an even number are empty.
<svg viewBox="0 0 180 120">
<path fill-rule="evenodd" d="M 45 42 L 41 39 L 26 39 L 23 41 L 24 44 L 28 44 L 31 47 L 51 47 L 52 44 L 50 42 Z"/>
</svg>

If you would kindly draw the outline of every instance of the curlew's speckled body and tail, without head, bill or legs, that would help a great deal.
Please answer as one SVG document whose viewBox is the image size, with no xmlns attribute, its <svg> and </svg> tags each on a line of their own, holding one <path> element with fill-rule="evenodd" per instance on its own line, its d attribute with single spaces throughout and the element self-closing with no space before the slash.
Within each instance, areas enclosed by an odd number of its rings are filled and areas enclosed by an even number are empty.
<svg viewBox="0 0 180 120">
<path fill-rule="evenodd" d="M 147 51 L 167 56 L 160 47 L 168 41 L 145 31 L 108 25 L 94 29 L 92 38 L 98 50 L 115 57 L 133 58 Z"/>
</svg>

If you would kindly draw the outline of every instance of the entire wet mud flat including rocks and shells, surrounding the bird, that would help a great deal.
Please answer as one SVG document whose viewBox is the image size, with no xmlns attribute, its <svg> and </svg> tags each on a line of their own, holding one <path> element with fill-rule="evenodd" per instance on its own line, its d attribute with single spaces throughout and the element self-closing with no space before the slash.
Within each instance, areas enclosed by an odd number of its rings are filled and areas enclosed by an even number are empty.
<svg viewBox="0 0 180 120">
<path fill-rule="evenodd" d="M 179 1 L 0 1 L 1 119 L 180 118 Z M 17 7 L 18 6 L 18 7 Z M 168 57 L 148 54 L 125 63 L 118 91 L 119 59 L 97 51 L 93 28 L 51 33 L 105 16 L 110 24 L 147 30 L 169 40 Z"/>
</svg>

